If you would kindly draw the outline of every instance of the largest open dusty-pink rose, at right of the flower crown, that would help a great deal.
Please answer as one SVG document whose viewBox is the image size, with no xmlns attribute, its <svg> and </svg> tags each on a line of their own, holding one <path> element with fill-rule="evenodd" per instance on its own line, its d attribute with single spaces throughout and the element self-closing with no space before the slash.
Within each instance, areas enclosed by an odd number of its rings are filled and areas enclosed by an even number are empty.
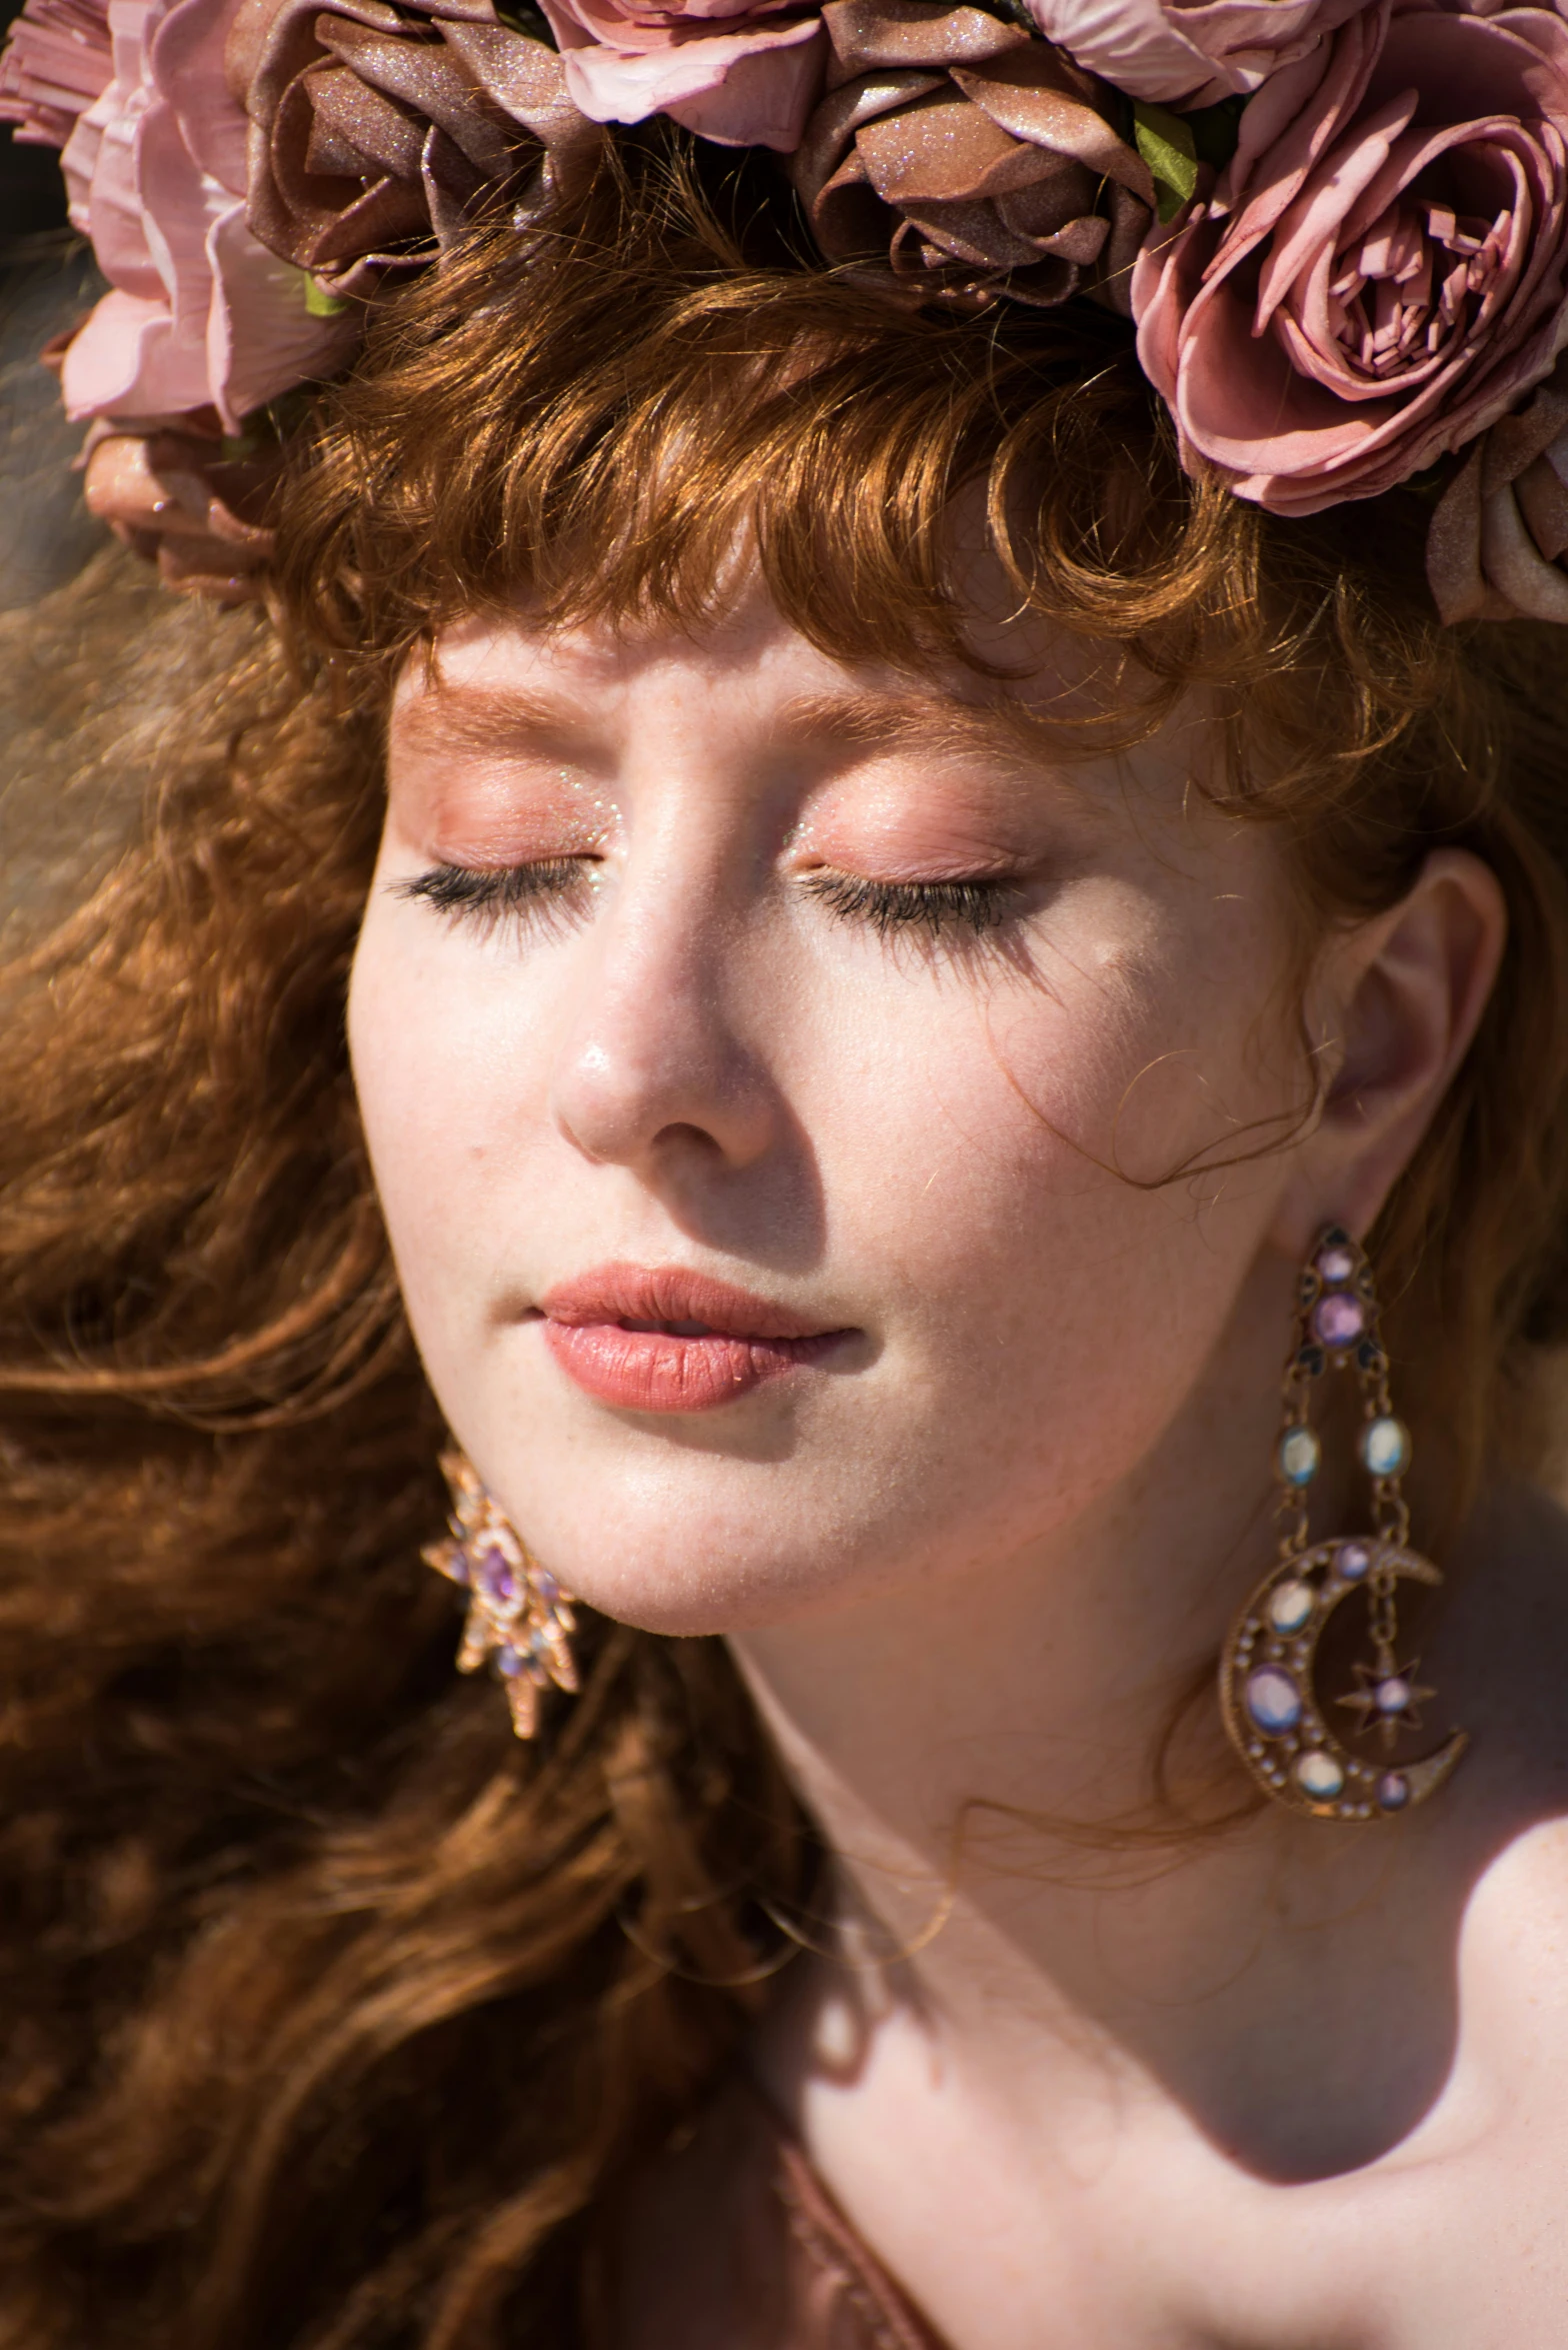
<svg viewBox="0 0 1568 2350">
<path fill-rule="evenodd" d="M 1516 407 L 1566 294 L 1568 24 L 1425 0 L 1265 82 L 1134 277 L 1185 461 L 1286 515 L 1378 496 Z"/>
</svg>

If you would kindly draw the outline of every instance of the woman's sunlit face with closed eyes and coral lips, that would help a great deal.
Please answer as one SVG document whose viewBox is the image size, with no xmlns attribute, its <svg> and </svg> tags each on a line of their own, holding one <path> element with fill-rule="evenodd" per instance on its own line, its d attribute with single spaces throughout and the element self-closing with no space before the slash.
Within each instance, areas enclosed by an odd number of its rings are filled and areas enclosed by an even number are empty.
<svg viewBox="0 0 1568 2350">
<path fill-rule="evenodd" d="M 723 1631 L 974 1572 L 1197 1412 L 1289 1154 L 1157 1177 L 1305 1081 L 1195 747 L 1052 766 L 761 592 L 408 665 L 354 1074 L 439 1403 L 568 1589 Z"/>
</svg>

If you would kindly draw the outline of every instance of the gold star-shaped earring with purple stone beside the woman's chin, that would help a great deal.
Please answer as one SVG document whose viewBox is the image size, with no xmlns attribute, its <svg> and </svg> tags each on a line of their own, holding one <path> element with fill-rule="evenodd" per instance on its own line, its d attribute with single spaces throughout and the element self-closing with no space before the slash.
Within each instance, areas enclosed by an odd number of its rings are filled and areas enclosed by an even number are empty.
<svg viewBox="0 0 1568 2350">
<path fill-rule="evenodd" d="M 444 1452 L 441 1476 L 453 1497 L 451 1537 L 420 1556 L 469 1596 L 458 1671 L 472 1673 L 493 1657 L 512 1727 L 530 1739 L 540 1727 L 540 1690 L 552 1680 L 559 1690 L 577 1687 L 570 1593 L 528 1553 L 465 1452 Z"/>
</svg>

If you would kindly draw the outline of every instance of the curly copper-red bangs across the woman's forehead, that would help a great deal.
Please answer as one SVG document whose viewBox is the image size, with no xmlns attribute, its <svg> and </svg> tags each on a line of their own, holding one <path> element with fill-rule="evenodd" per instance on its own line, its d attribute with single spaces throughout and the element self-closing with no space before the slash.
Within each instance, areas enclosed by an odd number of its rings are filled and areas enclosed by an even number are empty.
<svg viewBox="0 0 1568 2350">
<path fill-rule="evenodd" d="M 620 162 L 573 226 L 488 230 L 371 322 L 289 491 L 282 595 L 364 672 L 519 602 L 697 632 L 744 548 L 824 653 L 984 667 L 960 491 L 1021 606 L 1153 674 L 1249 606 L 1256 517 L 1181 475 L 1124 320 L 894 310 L 749 261 L 699 190 Z"/>
</svg>

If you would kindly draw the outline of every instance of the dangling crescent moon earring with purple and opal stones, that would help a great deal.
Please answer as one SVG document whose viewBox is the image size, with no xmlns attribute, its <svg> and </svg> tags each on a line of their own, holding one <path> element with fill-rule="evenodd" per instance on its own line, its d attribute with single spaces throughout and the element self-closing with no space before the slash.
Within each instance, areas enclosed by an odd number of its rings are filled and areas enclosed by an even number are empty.
<svg viewBox="0 0 1568 2350">
<path fill-rule="evenodd" d="M 1322 1464 L 1312 1429 L 1312 1382 L 1354 1365 L 1361 1384 L 1359 1457 L 1371 1476 L 1368 1535 L 1307 1546 L 1307 1492 Z M 1397 1584 L 1441 1584 L 1408 1549 L 1404 1471 L 1411 1436 L 1394 1417 L 1378 1292 L 1366 1253 L 1329 1224 L 1303 1267 L 1296 1347 L 1284 1370 L 1284 1426 L 1275 1450 L 1279 1558 L 1230 1626 L 1221 1654 L 1221 1716 L 1239 1760 L 1265 1795 L 1310 1819 L 1385 1819 L 1437 1793 L 1465 1753 L 1465 1732 L 1420 1762 L 1361 1762 L 1333 1734 L 1317 1701 L 1312 1668 L 1329 1617 L 1350 1598 L 1371 1598 L 1371 1661 L 1354 1666 L 1354 1690 L 1336 1699 L 1357 1732 L 1378 1730 L 1385 1758 L 1401 1730 L 1420 1730 L 1420 1659 L 1399 1657 Z"/>
</svg>

